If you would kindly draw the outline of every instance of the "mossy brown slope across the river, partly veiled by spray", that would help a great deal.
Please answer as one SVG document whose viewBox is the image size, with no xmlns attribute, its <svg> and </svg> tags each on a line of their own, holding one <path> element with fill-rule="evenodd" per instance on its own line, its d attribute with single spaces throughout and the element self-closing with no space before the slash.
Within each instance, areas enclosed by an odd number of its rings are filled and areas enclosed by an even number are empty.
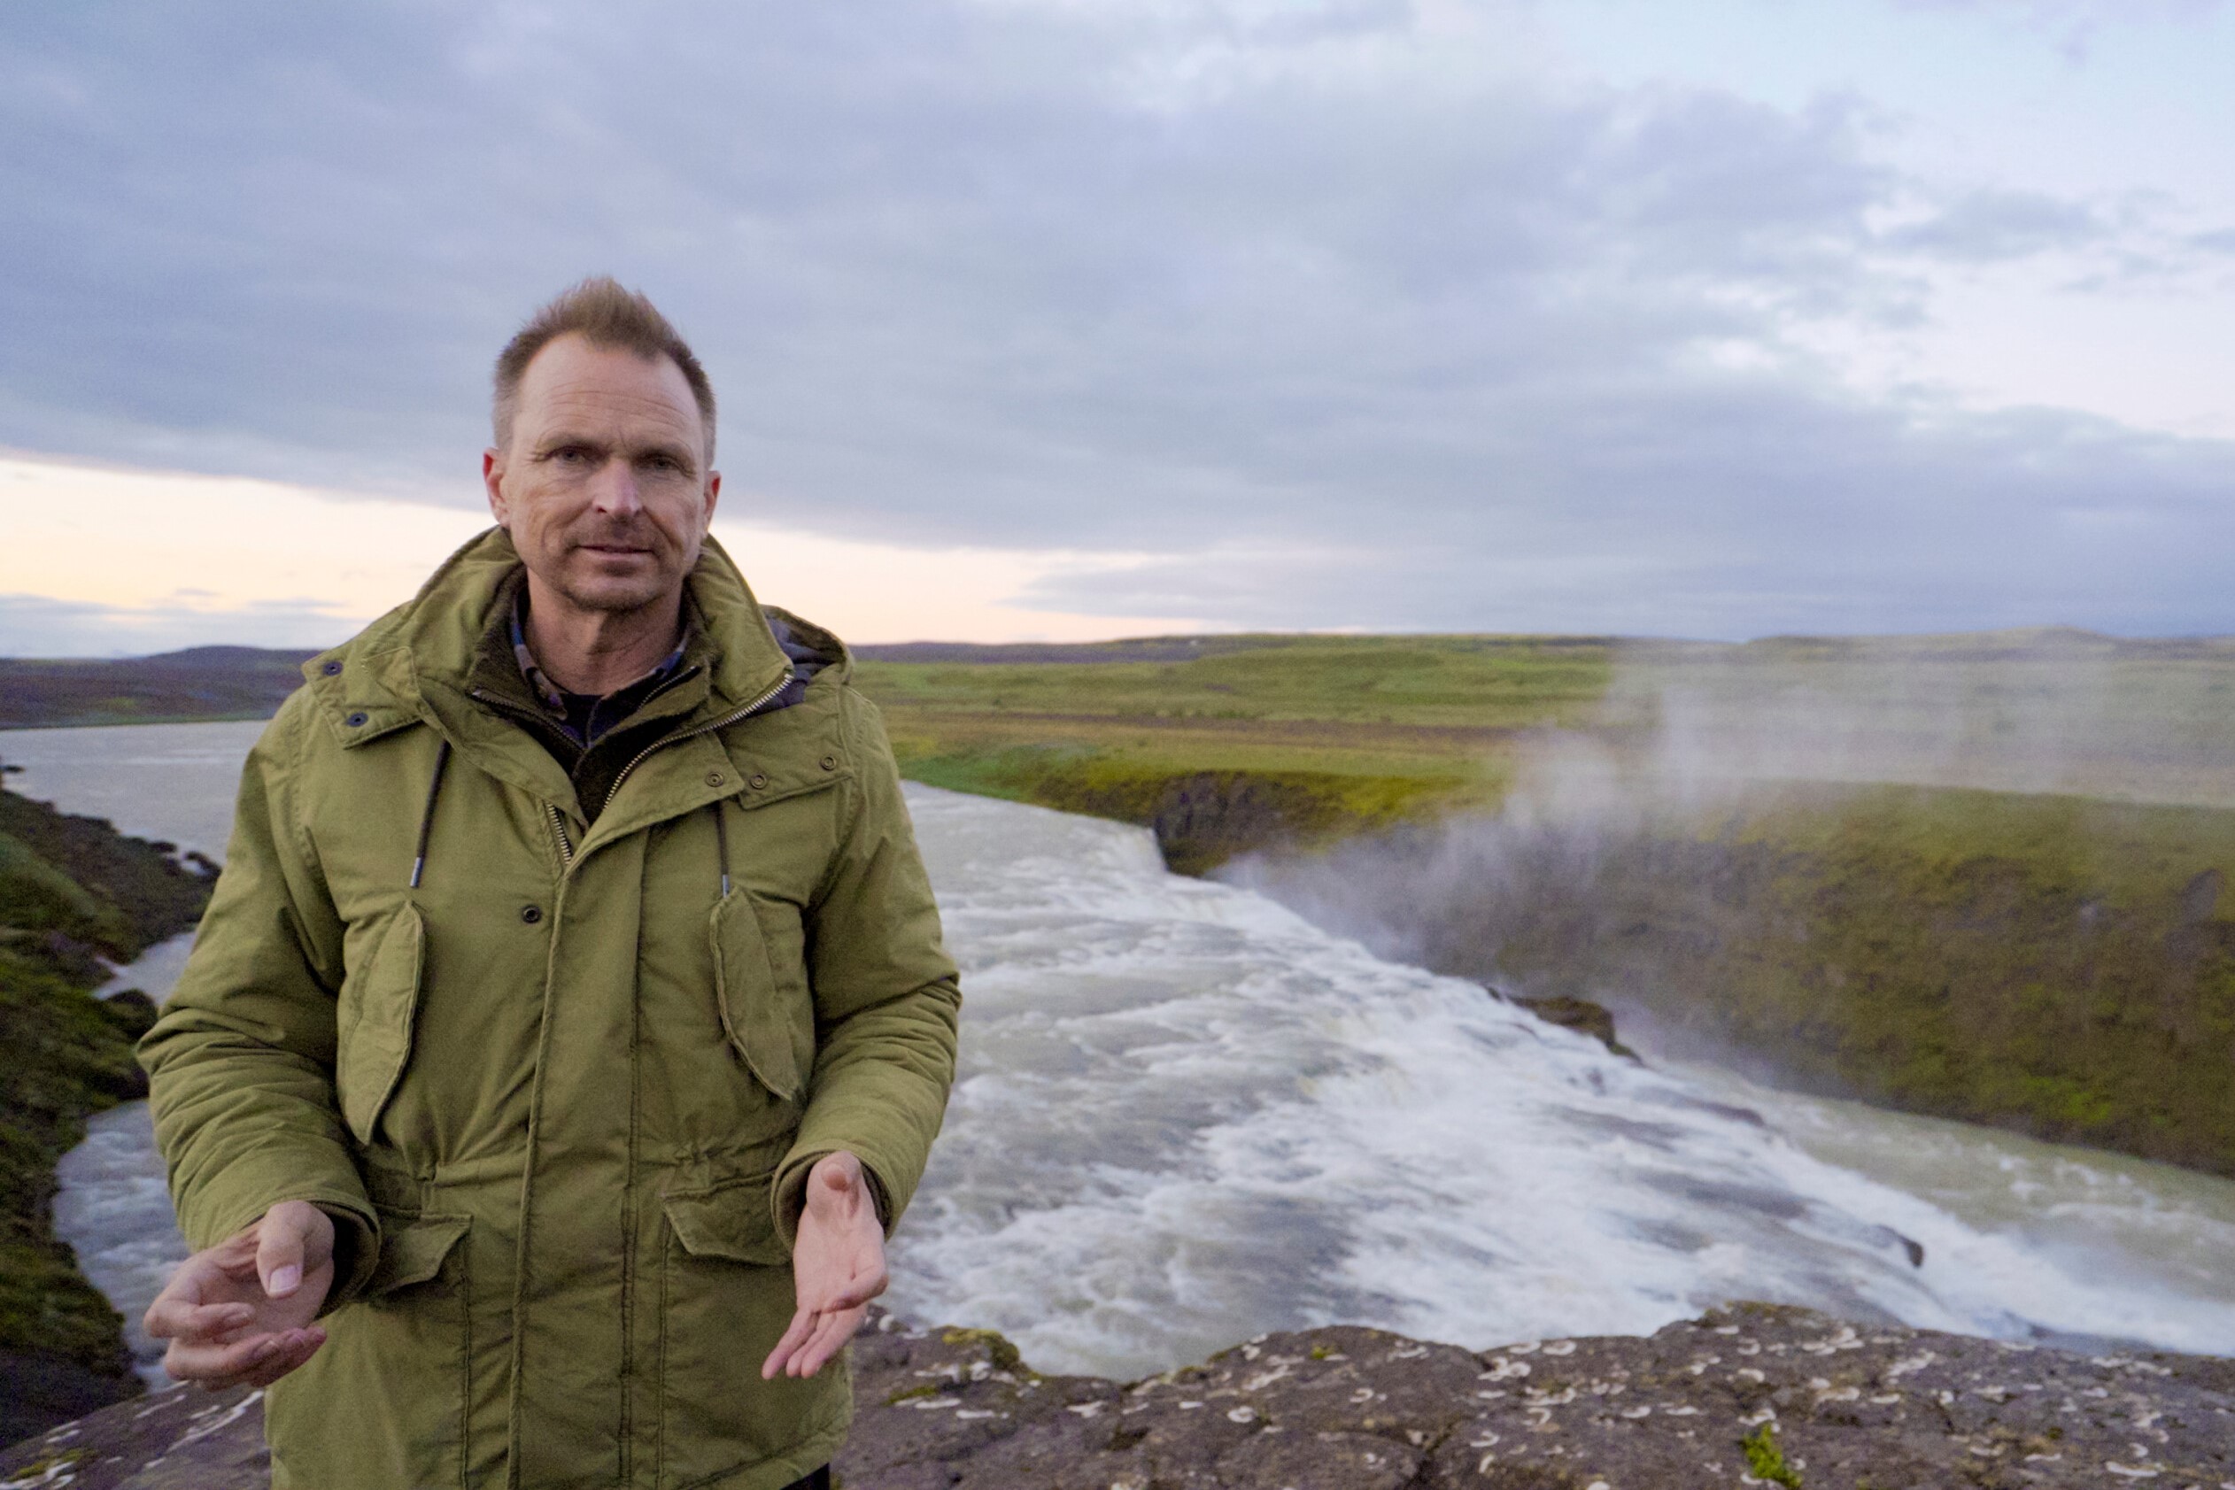
<svg viewBox="0 0 2235 1490">
<path fill-rule="evenodd" d="M 1779 1086 L 2235 1175 L 2235 811 L 1788 786 L 1263 871 L 1439 972 Z M 1634 1016 L 1643 1016 L 1632 1023 Z"/>
</svg>

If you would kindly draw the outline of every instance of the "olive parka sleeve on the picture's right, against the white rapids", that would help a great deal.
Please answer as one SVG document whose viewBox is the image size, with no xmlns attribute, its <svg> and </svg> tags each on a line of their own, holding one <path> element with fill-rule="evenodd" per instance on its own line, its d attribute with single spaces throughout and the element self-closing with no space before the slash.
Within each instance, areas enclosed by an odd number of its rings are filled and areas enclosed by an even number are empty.
<svg viewBox="0 0 2235 1490">
<path fill-rule="evenodd" d="M 838 1150 L 869 1171 L 890 1233 L 916 1193 L 954 1083 L 961 992 L 892 746 L 874 706 L 852 690 L 843 728 L 852 802 L 807 925 L 816 1066 L 798 1137 L 776 1171 L 776 1224 L 787 1247 L 807 1171 Z"/>
</svg>

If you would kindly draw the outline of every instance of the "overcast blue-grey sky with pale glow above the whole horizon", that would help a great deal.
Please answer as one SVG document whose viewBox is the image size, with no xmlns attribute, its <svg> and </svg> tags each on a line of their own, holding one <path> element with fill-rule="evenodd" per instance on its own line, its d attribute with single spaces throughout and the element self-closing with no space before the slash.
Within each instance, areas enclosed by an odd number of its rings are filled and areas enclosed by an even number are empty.
<svg viewBox="0 0 2235 1490">
<path fill-rule="evenodd" d="M 860 639 L 2228 632 L 2228 141 L 2219 0 L 4 7 L 0 652 L 405 599 L 601 270 Z"/>
</svg>

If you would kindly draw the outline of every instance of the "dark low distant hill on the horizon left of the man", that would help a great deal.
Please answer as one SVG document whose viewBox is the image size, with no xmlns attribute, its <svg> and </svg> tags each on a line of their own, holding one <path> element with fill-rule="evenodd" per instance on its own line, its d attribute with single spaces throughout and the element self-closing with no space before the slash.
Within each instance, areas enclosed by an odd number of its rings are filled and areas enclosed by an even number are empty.
<svg viewBox="0 0 2235 1490">
<path fill-rule="evenodd" d="M 0 657 L 0 728 L 261 719 L 313 652 L 208 646 L 159 657 Z"/>
</svg>

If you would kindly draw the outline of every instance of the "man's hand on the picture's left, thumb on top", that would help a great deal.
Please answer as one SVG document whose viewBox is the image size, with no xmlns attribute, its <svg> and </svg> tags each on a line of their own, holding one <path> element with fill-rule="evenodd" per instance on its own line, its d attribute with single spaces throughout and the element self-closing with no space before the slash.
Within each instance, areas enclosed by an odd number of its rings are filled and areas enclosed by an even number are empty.
<svg viewBox="0 0 2235 1490">
<path fill-rule="evenodd" d="M 170 1340 L 177 1381 L 268 1387 L 326 1343 L 317 1318 L 333 1287 L 333 1217 L 282 1200 L 264 1220 L 179 1264 L 148 1305 L 148 1334 Z"/>
</svg>

